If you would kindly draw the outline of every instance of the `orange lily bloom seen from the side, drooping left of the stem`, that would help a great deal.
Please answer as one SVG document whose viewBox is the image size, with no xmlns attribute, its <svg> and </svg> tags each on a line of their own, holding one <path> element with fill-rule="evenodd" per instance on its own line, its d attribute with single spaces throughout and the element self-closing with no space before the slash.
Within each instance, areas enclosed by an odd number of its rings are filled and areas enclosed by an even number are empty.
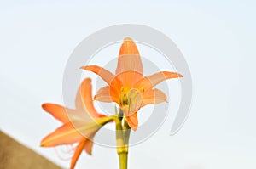
<svg viewBox="0 0 256 169">
<path fill-rule="evenodd" d="M 97 113 L 91 96 L 90 78 L 84 79 L 75 100 L 75 109 L 59 104 L 43 104 L 43 109 L 63 124 L 41 141 L 41 146 L 52 147 L 61 144 L 77 144 L 70 168 L 74 168 L 79 155 L 85 150 L 91 155 L 93 137 L 113 116 Z"/>
</svg>

